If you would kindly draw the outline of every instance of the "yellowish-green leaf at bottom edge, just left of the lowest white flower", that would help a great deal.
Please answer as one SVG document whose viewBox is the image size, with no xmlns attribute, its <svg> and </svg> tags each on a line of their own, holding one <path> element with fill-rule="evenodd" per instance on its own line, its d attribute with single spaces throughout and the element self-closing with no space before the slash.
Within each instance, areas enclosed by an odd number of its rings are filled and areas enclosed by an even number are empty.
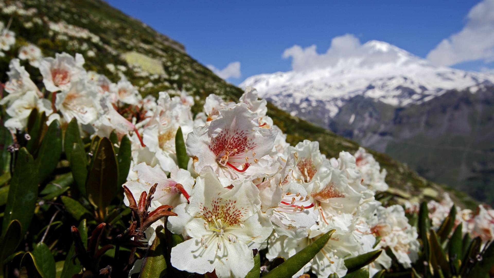
<svg viewBox="0 0 494 278">
<path fill-rule="evenodd" d="M 140 278 L 161 278 L 166 275 L 166 240 L 163 226 L 156 229 L 156 237 L 142 261 Z"/>
</svg>

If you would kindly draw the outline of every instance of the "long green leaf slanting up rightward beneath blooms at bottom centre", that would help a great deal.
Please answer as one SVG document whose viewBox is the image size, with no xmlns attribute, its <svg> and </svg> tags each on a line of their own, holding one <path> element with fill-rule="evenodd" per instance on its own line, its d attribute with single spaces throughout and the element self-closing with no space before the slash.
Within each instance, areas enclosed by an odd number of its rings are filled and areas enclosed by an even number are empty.
<svg viewBox="0 0 494 278">
<path fill-rule="evenodd" d="M 307 245 L 304 249 L 297 252 L 295 255 L 291 256 L 280 266 L 271 270 L 268 274 L 263 276 L 264 278 L 284 278 L 292 277 L 299 270 L 301 270 L 314 256 L 323 249 L 323 247 L 328 243 L 329 238 L 335 230 L 331 230 L 318 239 L 316 239 L 311 244 Z"/>
</svg>

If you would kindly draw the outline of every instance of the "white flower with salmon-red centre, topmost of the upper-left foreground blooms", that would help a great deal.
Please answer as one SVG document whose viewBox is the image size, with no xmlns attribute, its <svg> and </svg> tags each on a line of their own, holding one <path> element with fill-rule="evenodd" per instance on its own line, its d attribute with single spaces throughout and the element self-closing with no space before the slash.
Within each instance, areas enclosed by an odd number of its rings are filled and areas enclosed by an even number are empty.
<svg viewBox="0 0 494 278">
<path fill-rule="evenodd" d="M 69 90 L 72 83 L 85 80 L 86 71 L 82 68 L 84 57 L 77 53 L 76 57 L 63 52 L 56 53 L 55 58 L 46 57 L 40 62 L 43 83 L 49 92 Z"/>
</svg>

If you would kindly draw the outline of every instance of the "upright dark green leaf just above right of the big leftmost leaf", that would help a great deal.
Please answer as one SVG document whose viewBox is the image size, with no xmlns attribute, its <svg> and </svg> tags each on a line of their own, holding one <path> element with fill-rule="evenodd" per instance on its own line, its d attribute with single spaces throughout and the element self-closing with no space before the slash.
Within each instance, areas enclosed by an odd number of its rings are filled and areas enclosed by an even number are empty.
<svg viewBox="0 0 494 278">
<path fill-rule="evenodd" d="M 38 183 L 41 183 L 55 170 L 62 155 L 62 130 L 58 120 L 51 122 L 41 141 L 35 160 Z"/>
</svg>

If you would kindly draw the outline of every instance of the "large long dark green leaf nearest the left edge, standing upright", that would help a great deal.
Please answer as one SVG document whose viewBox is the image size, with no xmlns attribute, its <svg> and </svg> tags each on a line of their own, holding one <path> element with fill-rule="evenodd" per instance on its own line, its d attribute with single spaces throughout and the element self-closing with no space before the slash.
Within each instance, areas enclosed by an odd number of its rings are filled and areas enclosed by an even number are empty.
<svg viewBox="0 0 494 278">
<path fill-rule="evenodd" d="M 17 152 L 14 171 L 3 216 L 2 237 L 14 219 L 19 220 L 24 235 L 33 219 L 38 198 L 37 172 L 33 157 L 26 148 Z"/>
</svg>

